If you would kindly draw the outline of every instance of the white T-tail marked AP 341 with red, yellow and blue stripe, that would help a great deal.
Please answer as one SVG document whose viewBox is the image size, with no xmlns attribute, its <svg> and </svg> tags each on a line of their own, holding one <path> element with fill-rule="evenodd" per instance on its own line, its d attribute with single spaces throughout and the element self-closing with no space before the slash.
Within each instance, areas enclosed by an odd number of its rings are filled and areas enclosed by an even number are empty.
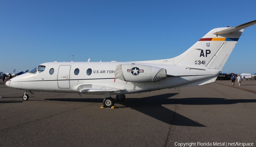
<svg viewBox="0 0 256 147">
<path fill-rule="evenodd" d="M 256 20 L 232 28 L 215 28 L 181 55 L 172 58 L 174 65 L 222 69 L 243 30 Z"/>
</svg>

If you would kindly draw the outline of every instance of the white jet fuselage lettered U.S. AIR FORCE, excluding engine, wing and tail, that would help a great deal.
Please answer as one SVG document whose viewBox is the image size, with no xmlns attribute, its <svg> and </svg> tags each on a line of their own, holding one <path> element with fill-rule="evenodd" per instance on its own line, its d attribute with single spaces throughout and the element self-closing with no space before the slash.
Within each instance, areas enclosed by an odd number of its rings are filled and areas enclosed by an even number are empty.
<svg viewBox="0 0 256 147">
<path fill-rule="evenodd" d="M 171 76 L 157 82 L 127 82 L 115 78 L 115 68 L 120 64 L 159 67 L 166 69 L 166 74 Z M 207 81 L 213 82 L 219 72 L 216 69 L 136 62 L 48 62 L 40 64 L 34 73 L 12 78 L 6 85 L 22 90 L 65 93 L 80 93 L 79 86 L 93 85 L 118 89 L 119 94 L 128 94 L 206 84 Z M 113 94 L 116 93 L 111 92 Z"/>
</svg>

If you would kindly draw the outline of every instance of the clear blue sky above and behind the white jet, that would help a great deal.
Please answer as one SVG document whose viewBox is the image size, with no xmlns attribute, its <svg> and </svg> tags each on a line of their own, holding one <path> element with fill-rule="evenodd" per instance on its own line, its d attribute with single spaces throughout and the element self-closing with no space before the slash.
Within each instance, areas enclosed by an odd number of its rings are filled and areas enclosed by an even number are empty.
<svg viewBox="0 0 256 147">
<path fill-rule="evenodd" d="M 256 20 L 256 1 L 0 2 L 0 71 L 52 61 L 173 58 L 213 28 Z M 243 32 L 226 73 L 256 73 L 256 26 Z"/>
</svg>

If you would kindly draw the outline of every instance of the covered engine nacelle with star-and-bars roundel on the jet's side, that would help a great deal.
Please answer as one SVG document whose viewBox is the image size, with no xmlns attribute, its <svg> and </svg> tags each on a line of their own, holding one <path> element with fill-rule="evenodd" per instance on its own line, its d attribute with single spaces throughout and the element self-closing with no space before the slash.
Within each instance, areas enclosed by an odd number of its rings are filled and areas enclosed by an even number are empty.
<svg viewBox="0 0 256 147">
<path fill-rule="evenodd" d="M 157 82 L 166 79 L 166 69 L 148 65 L 120 64 L 115 68 L 115 78 L 127 82 Z"/>
</svg>

